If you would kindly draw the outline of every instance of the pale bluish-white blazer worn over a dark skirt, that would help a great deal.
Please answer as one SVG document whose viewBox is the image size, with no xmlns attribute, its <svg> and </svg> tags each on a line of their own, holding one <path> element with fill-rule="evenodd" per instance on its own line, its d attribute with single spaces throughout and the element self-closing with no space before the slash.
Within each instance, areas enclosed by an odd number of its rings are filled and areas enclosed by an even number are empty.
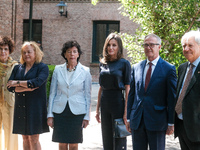
<svg viewBox="0 0 200 150">
<path fill-rule="evenodd" d="M 54 113 L 62 113 L 67 105 L 75 115 L 85 114 L 90 120 L 92 77 L 88 67 L 78 63 L 71 81 L 66 76 L 66 63 L 56 65 L 53 72 L 47 118 Z"/>
</svg>

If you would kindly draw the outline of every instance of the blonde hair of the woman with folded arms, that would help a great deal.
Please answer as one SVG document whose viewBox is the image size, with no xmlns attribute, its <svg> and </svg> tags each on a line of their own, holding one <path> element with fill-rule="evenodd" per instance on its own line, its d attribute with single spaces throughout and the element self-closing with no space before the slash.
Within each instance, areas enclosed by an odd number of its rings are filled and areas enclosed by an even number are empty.
<svg viewBox="0 0 200 150">
<path fill-rule="evenodd" d="M 23 60 L 22 54 L 23 54 L 24 47 L 27 46 L 27 45 L 33 47 L 33 50 L 35 51 L 35 63 L 40 63 L 42 61 L 42 57 L 44 56 L 44 53 L 41 51 L 41 49 L 39 48 L 37 43 L 34 42 L 34 41 L 24 42 L 24 44 L 22 45 L 20 63 L 21 64 L 25 63 L 24 60 Z"/>
</svg>

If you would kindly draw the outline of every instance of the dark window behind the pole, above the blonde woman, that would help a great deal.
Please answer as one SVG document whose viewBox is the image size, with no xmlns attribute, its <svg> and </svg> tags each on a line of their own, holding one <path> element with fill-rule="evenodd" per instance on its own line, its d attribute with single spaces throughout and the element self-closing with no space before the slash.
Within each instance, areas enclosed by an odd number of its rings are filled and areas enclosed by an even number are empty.
<svg viewBox="0 0 200 150">
<path fill-rule="evenodd" d="M 23 41 L 28 41 L 29 37 L 29 20 L 23 23 Z M 32 40 L 42 43 L 42 20 L 32 20 Z"/>
</svg>

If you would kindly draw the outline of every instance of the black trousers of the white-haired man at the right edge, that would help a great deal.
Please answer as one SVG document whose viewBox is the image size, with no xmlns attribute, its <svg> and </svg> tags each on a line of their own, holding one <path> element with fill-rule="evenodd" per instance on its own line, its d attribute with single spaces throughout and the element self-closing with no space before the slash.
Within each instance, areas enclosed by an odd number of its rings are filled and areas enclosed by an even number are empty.
<svg viewBox="0 0 200 150">
<path fill-rule="evenodd" d="M 181 150 L 200 150 L 200 142 L 192 142 L 188 139 L 182 120 L 178 120 L 177 124 L 178 138 Z"/>
</svg>

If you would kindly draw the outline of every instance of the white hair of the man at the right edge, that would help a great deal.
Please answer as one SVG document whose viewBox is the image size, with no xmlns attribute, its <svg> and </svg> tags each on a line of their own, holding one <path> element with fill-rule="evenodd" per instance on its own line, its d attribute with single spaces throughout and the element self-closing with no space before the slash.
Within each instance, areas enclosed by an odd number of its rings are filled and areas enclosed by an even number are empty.
<svg viewBox="0 0 200 150">
<path fill-rule="evenodd" d="M 195 42 L 200 45 L 200 31 L 194 31 L 194 30 L 191 30 L 187 33 L 185 33 L 181 39 L 181 44 L 183 44 L 183 39 L 189 39 L 191 37 L 194 37 L 194 40 Z"/>
</svg>

